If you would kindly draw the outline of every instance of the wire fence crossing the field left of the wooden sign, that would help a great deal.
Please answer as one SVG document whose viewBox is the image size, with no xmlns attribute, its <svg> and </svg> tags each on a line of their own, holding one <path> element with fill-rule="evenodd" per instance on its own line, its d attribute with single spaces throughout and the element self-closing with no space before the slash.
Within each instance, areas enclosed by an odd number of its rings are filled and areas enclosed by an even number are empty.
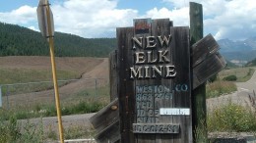
<svg viewBox="0 0 256 143">
<path fill-rule="evenodd" d="M 86 78 L 58 80 L 62 105 L 76 104 L 81 101 L 107 100 L 109 97 L 106 78 Z M 54 105 L 52 81 L 15 83 L 0 85 L 0 107 L 3 109 L 34 109 L 43 105 Z"/>
</svg>

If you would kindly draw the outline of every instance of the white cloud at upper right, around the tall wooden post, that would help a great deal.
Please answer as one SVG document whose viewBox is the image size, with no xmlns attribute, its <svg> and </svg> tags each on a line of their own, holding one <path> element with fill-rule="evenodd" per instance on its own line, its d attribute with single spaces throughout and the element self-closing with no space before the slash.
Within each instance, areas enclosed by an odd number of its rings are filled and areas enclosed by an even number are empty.
<svg viewBox="0 0 256 143">
<path fill-rule="evenodd" d="M 163 0 L 180 9 L 184 1 Z M 203 5 L 205 34 L 212 33 L 217 39 L 234 40 L 256 34 L 256 3 L 254 0 L 193 0 Z M 188 0 L 186 0 L 188 3 Z"/>
</svg>

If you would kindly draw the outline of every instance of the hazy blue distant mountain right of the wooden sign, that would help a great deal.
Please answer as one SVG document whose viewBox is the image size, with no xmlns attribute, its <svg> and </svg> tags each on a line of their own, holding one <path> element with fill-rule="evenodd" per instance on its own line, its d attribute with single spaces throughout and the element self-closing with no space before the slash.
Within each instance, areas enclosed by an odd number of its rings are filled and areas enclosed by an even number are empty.
<svg viewBox="0 0 256 143">
<path fill-rule="evenodd" d="M 244 65 L 256 58 L 256 37 L 241 41 L 221 39 L 218 41 L 224 58 L 236 65 Z"/>
</svg>

